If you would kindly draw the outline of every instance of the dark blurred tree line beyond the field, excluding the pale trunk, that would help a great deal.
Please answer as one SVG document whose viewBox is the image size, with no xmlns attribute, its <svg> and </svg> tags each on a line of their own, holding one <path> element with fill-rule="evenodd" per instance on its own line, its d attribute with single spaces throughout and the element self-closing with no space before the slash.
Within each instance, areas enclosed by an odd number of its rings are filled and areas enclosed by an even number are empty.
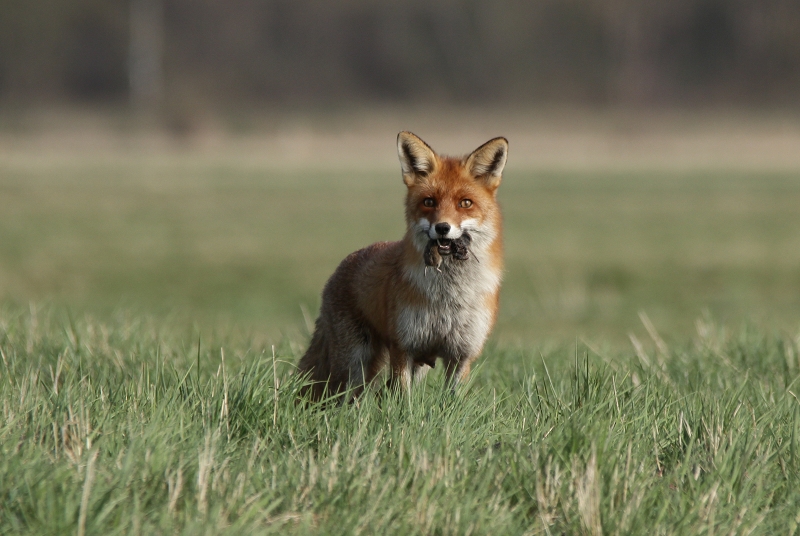
<svg viewBox="0 0 800 536">
<path fill-rule="evenodd" d="M 0 103 L 125 102 L 136 1 L 2 0 Z M 168 101 L 792 105 L 800 96 L 797 0 L 155 1 Z"/>
</svg>

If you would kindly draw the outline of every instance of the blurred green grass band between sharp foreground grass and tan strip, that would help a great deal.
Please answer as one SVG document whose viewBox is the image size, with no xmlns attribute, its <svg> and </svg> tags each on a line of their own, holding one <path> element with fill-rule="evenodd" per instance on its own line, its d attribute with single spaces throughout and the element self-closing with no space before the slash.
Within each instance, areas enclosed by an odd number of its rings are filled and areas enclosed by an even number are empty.
<svg viewBox="0 0 800 536">
<path fill-rule="evenodd" d="M 391 150 L 391 147 L 389 147 Z M 348 253 L 403 233 L 399 170 L 282 170 L 198 151 L 0 159 L 0 299 L 302 340 Z M 800 328 L 797 172 L 525 170 L 500 200 L 497 340 L 627 345 L 644 310 Z"/>
</svg>

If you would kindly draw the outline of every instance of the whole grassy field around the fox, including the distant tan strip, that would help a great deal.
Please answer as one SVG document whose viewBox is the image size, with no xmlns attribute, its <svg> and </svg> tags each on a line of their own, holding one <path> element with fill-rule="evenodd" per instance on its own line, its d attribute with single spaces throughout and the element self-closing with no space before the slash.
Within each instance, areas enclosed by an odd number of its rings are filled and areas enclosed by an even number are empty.
<svg viewBox="0 0 800 536">
<path fill-rule="evenodd" d="M 445 151 L 502 133 L 421 123 Z M 326 277 L 402 234 L 407 126 L 365 128 L 363 159 L 285 133 L 0 136 L 0 532 L 794 533 L 795 131 L 513 123 L 468 390 L 297 404 Z M 711 156 L 663 158 L 681 143 Z"/>
</svg>

